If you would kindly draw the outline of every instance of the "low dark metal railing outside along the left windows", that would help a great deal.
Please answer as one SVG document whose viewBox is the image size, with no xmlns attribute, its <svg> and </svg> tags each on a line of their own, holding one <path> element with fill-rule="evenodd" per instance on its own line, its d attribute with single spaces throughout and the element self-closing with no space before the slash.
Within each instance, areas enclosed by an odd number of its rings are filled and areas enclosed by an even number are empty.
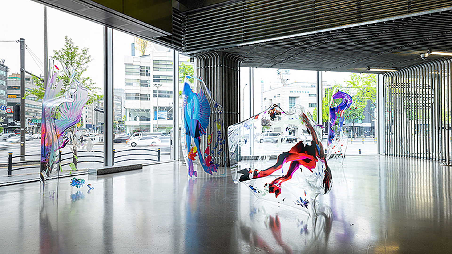
<svg viewBox="0 0 452 254">
<path fill-rule="evenodd" d="M 131 154 L 122 154 L 123 152 L 127 152 L 127 151 L 148 151 L 148 153 L 131 153 Z M 155 152 L 155 153 L 150 153 L 150 152 Z M 86 154 L 86 153 L 94 153 L 94 154 Z M 97 155 L 96 153 L 102 153 L 102 155 Z M 94 162 L 94 163 L 104 163 L 104 155 L 103 155 L 104 151 L 77 151 L 77 163 L 85 163 L 85 162 Z M 114 153 L 114 158 L 113 158 L 113 163 L 120 163 L 120 162 L 124 162 L 124 161 L 129 161 L 129 160 L 151 160 L 151 161 L 160 161 L 160 148 L 157 149 L 145 149 L 145 148 L 136 148 L 136 149 L 125 149 L 125 150 L 121 150 L 121 151 L 115 151 L 113 149 L 113 153 Z M 117 155 L 118 154 L 118 155 Z M 67 156 L 66 158 L 62 158 L 62 156 L 65 155 L 70 155 Z M 67 152 L 67 153 L 61 153 L 59 154 L 59 159 L 61 161 L 61 167 L 66 166 L 66 165 L 70 165 L 72 163 L 73 160 L 73 153 L 72 152 Z M 141 158 L 127 158 L 127 156 L 134 156 L 134 155 L 142 155 L 142 156 L 148 156 L 148 157 L 141 157 Z M 20 169 L 33 169 L 33 168 L 40 168 L 41 167 L 41 160 L 23 160 L 23 161 L 14 161 L 14 158 L 29 158 L 32 156 L 38 156 L 38 158 L 40 158 L 41 154 L 30 154 L 30 155 L 14 155 L 12 152 L 8 153 L 8 176 L 12 175 L 12 171 L 15 170 L 20 170 Z M 82 158 L 82 159 L 80 159 Z M 101 159 L 96 159 L 96 158 L 101 158 Z M 116 160 L 116 158 L 122 158 L 122 160 Z M 70 162 L 65 162 L 70 160 Z M 37 165 L 35 165 L 34 163 L 37 163 Z M 31 164 L 31 165 L 30 165 Z M 23 167 L 18 167 L 18 168 L 13 168 L 14 165 L 24 165 Z"/>
</svg>

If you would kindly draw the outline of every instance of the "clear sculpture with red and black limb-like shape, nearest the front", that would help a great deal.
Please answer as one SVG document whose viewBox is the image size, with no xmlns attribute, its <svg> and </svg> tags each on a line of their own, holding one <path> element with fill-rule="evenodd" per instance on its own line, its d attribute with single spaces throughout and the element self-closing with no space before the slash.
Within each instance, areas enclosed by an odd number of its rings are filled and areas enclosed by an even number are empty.
<svg viewBox="0 0 452 254">
<path fill-rule="evenodd" d="M 258 198 L 308 212 L 317 195 L 332 186 L 319 129 L 302 106 L 287 113 L 275 104 L 230 126 L 232 179 L 245 183 Z"/>
</svg>

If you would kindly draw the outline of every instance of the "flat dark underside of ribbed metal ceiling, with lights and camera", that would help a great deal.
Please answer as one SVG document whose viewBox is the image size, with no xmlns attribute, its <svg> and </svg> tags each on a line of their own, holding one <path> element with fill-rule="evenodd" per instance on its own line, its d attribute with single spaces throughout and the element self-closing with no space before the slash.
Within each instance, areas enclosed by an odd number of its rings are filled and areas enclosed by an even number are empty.
<svg viewBox="0 0 452 254">
<path fill-rule="evenodd" d="M 246 67 L 364 72 L 423 62 L 428 49 L 452 52 L 451 42 L 452 12 L 444 11 L 224 50 L 243 56 Z"/>
</svg>

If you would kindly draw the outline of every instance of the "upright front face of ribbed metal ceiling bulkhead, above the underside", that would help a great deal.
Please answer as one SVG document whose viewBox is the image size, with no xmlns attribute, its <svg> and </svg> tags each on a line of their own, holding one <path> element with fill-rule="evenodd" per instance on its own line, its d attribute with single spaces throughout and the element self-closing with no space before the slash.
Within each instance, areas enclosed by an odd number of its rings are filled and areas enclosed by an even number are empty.
<svg viewBox="0 0 452 254">
<path fill-rule="evenodd" d="M 184 51 L 200 52 L 452 9 L 450 0 L 246 0 L 185 15 Z"/>
</svg>

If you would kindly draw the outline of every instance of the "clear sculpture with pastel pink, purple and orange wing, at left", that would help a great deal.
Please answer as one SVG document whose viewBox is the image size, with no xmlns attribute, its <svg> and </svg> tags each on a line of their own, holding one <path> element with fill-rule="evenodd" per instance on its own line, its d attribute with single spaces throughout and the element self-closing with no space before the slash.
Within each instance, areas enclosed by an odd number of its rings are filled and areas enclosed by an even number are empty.
<svg viewBox="0 0 452 254">
<path fill-rule="evenodd" d="M 50 75 L 49 75 L 50 77 Z M 82 109 L 88 101 L 88 90 L 74 79 L 69 81 L 69 88 L 61 93 L 63 80 L 53 74 L 47 81 L 42 99 L 41 125 L 41 181 L 45 181 L 59 172 L 55 170 L 59 162 L 58 151 L 66 146 L 69 138 L 65 131 L 80 121 Z"/>
</svg>

